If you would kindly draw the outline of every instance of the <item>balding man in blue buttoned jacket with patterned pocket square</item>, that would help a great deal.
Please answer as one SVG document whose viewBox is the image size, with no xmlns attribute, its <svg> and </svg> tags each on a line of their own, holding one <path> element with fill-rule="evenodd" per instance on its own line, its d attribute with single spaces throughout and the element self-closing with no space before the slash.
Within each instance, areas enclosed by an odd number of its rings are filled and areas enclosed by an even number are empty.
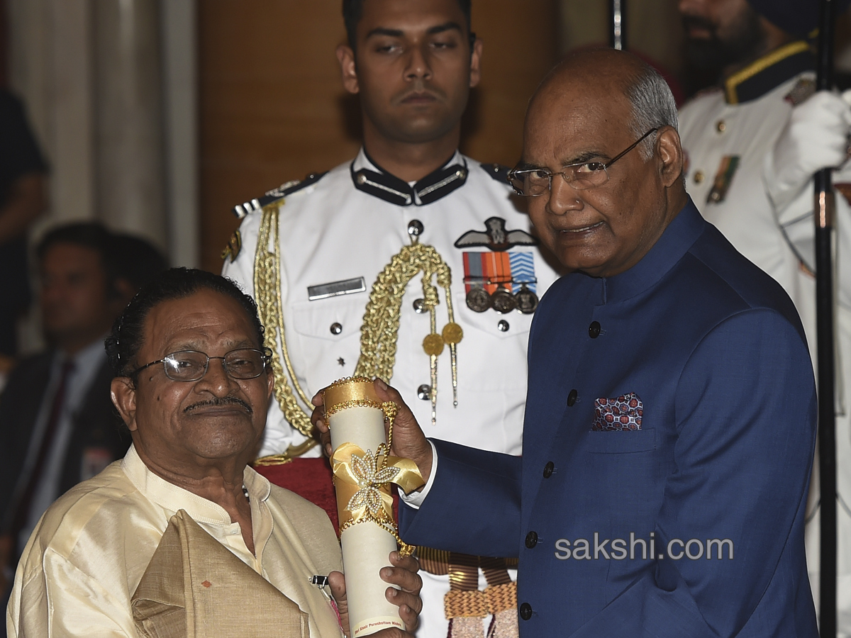
<svg viewBox="0 0 851 638">
<path fill-rule="evenodd" d="M 523 636 L 816 636 L 806 341 L 686 194 L 664 80 L 614 50 L 564 60 L 511 180 L 574 271 L 534 319 L 523 457 L 428 441 L 403 407 L 393 453 L 427 483 L 402 538 L 519 556 Z"/>
</svg>

